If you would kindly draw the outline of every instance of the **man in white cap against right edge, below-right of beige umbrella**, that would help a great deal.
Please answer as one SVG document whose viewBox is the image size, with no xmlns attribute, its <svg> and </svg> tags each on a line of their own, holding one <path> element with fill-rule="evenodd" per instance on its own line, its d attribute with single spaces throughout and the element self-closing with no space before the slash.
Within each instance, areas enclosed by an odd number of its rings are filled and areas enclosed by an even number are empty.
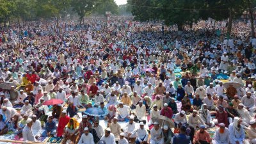
<svg viewBox="0 0 256 144">
<path fill-rule="evenodd" d="M 254 99 L 251 97 L 252 93 L 247 92 L 241 99 L 241 103 L 245 106 L 249 111 L 254 112 L 256 107 L 254 106 Z"/>
</svg>

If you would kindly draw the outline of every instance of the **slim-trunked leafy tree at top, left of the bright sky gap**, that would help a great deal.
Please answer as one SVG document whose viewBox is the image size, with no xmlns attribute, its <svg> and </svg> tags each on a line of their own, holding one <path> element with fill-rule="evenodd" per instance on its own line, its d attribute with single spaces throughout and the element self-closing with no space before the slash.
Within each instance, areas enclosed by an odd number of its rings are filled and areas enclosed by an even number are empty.
<svg viewBox="0 0 256 144">
<path fill-rule="evenodd" d="M 73 7 L 73 11 L 79 15 L 80 24 L 83 21 L 84 24 L 84 16 L 86 13 L 92 13 L 93 8 L 97 1 L 95 0 L 73 0 L 71 6 Z"/>
</svg>

